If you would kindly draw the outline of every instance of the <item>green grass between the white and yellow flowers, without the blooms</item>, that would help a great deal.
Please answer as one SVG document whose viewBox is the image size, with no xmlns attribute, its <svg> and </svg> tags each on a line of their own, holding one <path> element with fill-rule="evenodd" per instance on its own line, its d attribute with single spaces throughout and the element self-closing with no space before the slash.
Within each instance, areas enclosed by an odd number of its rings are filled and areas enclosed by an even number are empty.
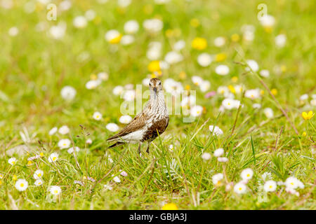
<svg viewBox="0 0 316 224">
<path fill-rule="evenodd" d="M 46 7 L 40 3 L 36 3 L 34 13 L 27 14 L 24 10 L 27 1 L 14 2 L 11 9 L 0 8 L 3 21 L 0 23 L 0 174 L 4 176 L 0 179 L 0 209 L 161 209 L 166 202 L 176 203 L 179 209 L 316 208 L 315 117 L 303 120 L 301 116 L 303 111 L 316 111 L 309 103 L 312 94 L 316 94 L 315 1 L 265 1 L 268 14 L 275 17 L 271 32 L 265 31 L 257 19 L 261 1 L 174 0 L 157 5 L 154 1 L 134 0 L 126 9 L 119 8 L 117 1 L 104 5 L 96 1 L 73 1 L 72 8 L 58 14 L 57 21 L 46 20 Z M 72 20 L 88 9 L 96 12 L 96 18 L 84 29 L 75 28 Z M 162 18 L 164 28 L 150 35 L 143 28 L 143 20 L 155 17 Z M 192 18 L 199 20 L 198 27 L 190 26 Z M 110 29 L 124 33 L 124 23 L 128 20 L 140 24 L 135 42 L 128 46 L 119 44 L 117 51 L 112 52 L 113 46 L 105 41 L 104 35 Z M 54 40 L 46 31 L 60 21 L 67 22 L 67 30 L 61 40 Z M 45 31 L 36 31 L 39 22 L 46 22 Z M 256 27 L 254 41 L 230 41 L 232 34 L 242 38 L 240 28 L 244 24 Z M 11 27 L 18 27 L 17 36 L 8 35 Z M 180 29 L 180 34 L 167 37 L 168 29 Z M 287 35 L 287 43 L 284 48 L 275 48 L 275 36 L 280 33 Z M 191 48 L 191 41 L 197 36 L 208 41 L 205 50 Z M 227 39 L 222 48 L 213 45 L 218 36 Z M 147 78 L 148 43 L 162 43 L 163 59 L 180 39 L 186 43 L 181 51 L 184 59 L 164 70 L 161 79 L 173 78 L 183 87 L 190 85 L 197 90 L 197 104 L 205 107 L 204 113 L 193 123 L 183 123 L 182 115 L 171 115 L 166 132 L 153 141 L 149 155 L 143 146 L 141 158 L 136 145 L 107 149 L 105 139 L 114 133 L 105 125 L 117 123 L 123 127 L 119 123 L 123 99 L 114 96 L 112 89 L 128 83 L 140 84 Z M 84 62 L 79 59 L 82 52 L 90 55 Z M 201 52 L 211 55 L 225 52 L 227 58 L 203 68 L 197 64 Z M 270 71 L 270 77 L 263 81 L 270 90 L 277 90 L 275 97 L 299 135 L 258 77 L 245 73 L 240 64 L 244 59 L 255 59 L 260 69 Z M 215 73 L 218 64 L 230 67 L 228 76 Z M 279 67 L 282 71 L 278 72 Z M 109 73 L 109 80 L 95 90 L 87 90 L 85 84 L 91 74 L 100 71 Z M 181 71 L 185 71 L 186 78 L 179 77 Z M 216 94 L 205 99 L 205 92 L 195 87 L 191 76 L 209 80 L 209 91 L 216 91 L 220 85 L 243 84 L 246 89 L 260 88 L 264 93 L 254 101 L 236 96 L 244 104 L 240 111 L 220 112 L 224 97 Z M 232 80 L 234 76 L 237 82 Z M 77 90 L 71 102 L 60 96 L 65 85 Z M 299 97 L 305 93 L 310 98 L 301 102 Z M 254 103 L 261 104 L 261 109 L 253 109 Z M 263 113 L 266 107 L 274 111 L 273 118 L 266 118 Z M 95 111 L 103 114 L 102 120 L 93 120 Z M 52 127 L 62 125 L 70 127 L 67 136 L 48 135 Z M 209 125 L 217 125 L 224 134 L 214 137 Z M 29 142 L 22 141 L 23 127 L 29 133 Z M 58 148 L 58 141 L 65 138 L 81 148 L 76 155 L 78 163 L 67 149 Z M 93 141 L 90 145 L 85 143 L 88 138 Z M 169 150 L 170 144 L 173 151 Z M 11 156 L 6 151 L 20 145 L 26 145 L 30 155 L 13 155 L 18 162 L 11 166 L 8 164 Z M 214 156 L 202 160 L 202 153 L 212 154 L 220 147 L 225 150 L 227 163 L 218 162 Z M 59 153 L 58 161 L 50 163 L 48 156 L 54 152 Z M 44 157 L 27 165 L 27 158 L 39 153 L 44 153 Z M 227 181 L 235 184 L 246 168 L 253 169 L 254 176 L 246 184 L 248 190 L 244 195 L 225 191 L 225 185 L 213 185 L 213 174 L 224 173 Z M 37 169 L 44 171 L 44 184 L 39 187 L 34 186 L 33 178 Z M 128 176 L 120 176 L 120 170 Z M 300 195 L 296 196 L 278 186 L 261 202 L 260 197 L 265 195 L 261 190 L 265 172 L 270 172 L 274 181 L 296 176 L 305 188 L 298 189 Z M 13 175 L 28 181 L 27 190 L 15 189 Z M 119 175 L 121 183 L 112 181 L 112 175 Z M 96 182 L 88 181 L 87 176 Z M 82 181 L 84 186 L 74 181 Z M 106 190 L 105 184 L 113 189 Z M 49 193 L 50 186 L 60 186 L 61 195 L 54 198 Z"/>
</svg>

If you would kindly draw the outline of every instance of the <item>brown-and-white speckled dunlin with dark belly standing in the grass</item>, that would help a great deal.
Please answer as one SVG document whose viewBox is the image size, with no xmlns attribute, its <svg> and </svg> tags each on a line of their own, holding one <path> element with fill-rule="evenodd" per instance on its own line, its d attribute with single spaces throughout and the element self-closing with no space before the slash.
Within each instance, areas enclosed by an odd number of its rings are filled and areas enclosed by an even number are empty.
<svg viewBox="0 0 316 224">
<path fill-rule="evenodd" d="M 159 78 L 150 79 L 150 99 L 145 104 L 141 113 L 133 118 L 129 125 L 126 125 L 118 134 L 107 139 L 107 141 L 117 141 L 109 148 L 121 146 L 122 144 L 139 144 L 147 141 L 149 153 L 150 143 L 162 134 L 169 124 L 169 114 L 164 102 L 164 92 L 162 91 L 162 81 Z"/>
</svg>

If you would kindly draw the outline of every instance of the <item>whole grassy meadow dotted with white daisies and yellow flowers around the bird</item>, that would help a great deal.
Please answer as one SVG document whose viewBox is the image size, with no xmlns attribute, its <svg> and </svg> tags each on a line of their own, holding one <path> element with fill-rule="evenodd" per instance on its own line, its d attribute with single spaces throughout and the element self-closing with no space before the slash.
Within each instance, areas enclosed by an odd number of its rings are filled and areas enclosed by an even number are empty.
<svg viewBox="0 0 316 224">
<path fill-rule="evenodd" d="M 0 0 L 0 209 L 316 209 L 315 9 Z M 166 132 L 108 149 L 154 77 Z"/>
</svg>

